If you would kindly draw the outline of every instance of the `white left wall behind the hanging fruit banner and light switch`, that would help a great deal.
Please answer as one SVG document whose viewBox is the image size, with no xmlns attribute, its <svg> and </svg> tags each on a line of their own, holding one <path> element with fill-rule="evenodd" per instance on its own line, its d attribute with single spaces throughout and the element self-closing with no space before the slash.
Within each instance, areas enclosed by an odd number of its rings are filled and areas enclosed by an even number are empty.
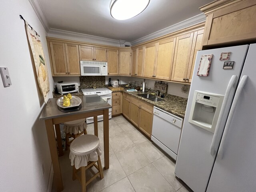
<svg viewBox="0 0 256 192">
<path fill-rule="evenodd" d="M 46 44 L 46 31 L 28 0 L 4 0 L 0 8 L 0 67 L 8 67 L 12 85 L 4 88 L 0 78 L 0 191 L 46 191 L 50 151 L 44 121 L 44 106 L 37 88 L 24 22 L 21 14 L 40 34 L 50 80 L 53 79 Z M 44 174 L 42 174 L 44 164 Z"/>
</svg>

